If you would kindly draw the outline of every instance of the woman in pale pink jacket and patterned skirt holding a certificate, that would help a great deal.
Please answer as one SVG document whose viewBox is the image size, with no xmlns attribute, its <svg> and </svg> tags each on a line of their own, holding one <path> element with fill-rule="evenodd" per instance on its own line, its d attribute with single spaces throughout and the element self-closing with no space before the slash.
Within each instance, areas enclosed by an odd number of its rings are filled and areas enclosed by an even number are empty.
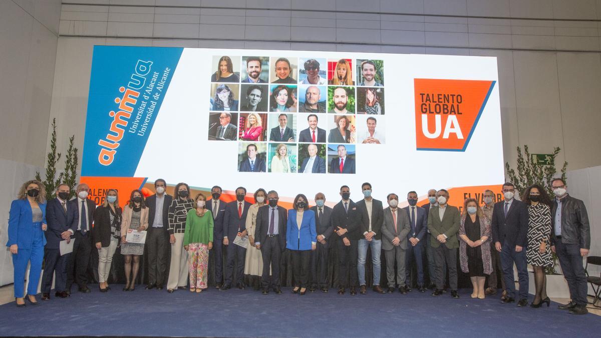
<svg viewBox="0 0 601 338">
<path fill-rule="evenodd" d="M 129 202 L 123 208 L 121 221 L 121 254 L 125 256 L 125 287 L 124 291 L 135 289 L 136 277 L 140 267 L 140 256 L 144 254 L 144 243 L 128 243 L 127 230 L 144 231 L 148 229 L 148 208 L 144 204 L 144 195 L 138 189 L 132 191 Z M 133 260 L 133 273 L 132 273 Z"/>
</svg>

